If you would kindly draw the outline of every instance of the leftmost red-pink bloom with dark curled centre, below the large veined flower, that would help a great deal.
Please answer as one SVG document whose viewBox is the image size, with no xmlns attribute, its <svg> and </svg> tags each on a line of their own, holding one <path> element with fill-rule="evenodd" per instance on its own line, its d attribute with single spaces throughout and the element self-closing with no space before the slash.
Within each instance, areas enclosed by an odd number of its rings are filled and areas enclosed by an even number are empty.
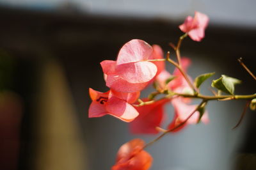
<svg viewBox="0 0 256 170">
<path fill-rule="evenodd" d="M 109 90 L 106 93 L 89 89 L 92 104 L 89 108 L 89 118 L 110 114 L 122 121 L 132 121 L 138 116 L 138 111 L 131 105 L 140 96 L 140 92 L 120 93 Z"/>
</svg>

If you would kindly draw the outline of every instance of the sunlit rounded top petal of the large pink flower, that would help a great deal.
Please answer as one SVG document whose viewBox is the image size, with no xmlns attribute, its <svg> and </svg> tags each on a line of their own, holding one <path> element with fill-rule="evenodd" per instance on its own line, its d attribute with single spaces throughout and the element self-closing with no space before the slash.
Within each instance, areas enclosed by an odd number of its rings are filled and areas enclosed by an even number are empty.
<svg viewBox="0 0 256 170">
<path fill-rule="evenodd" d="M 152 54 L 152 47 L 143 40 L 131 40 L 120 49 L 116 65 L 133 63 L 148 59 Z"/>
</svg>

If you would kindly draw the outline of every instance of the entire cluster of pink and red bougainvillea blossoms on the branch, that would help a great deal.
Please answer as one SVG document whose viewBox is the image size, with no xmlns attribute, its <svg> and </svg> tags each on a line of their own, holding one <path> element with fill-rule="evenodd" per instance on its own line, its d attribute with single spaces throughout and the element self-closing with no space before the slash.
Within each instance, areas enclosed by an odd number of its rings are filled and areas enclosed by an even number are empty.
<svg viewBox="0 0 256 170">
<path fill-rule="evenodd" d="M 200 41 L 204 38 L 208 22 L 206 15 L 195 12 L 195 17 L 187 17 L 179 28 L 192 40 Z M 186 73 L 191 63 L 190 59 L 181 58 L 179 62 L 180 68 Z M 104 60 L 100 65 L 109 91 L 102 93 L 89 89 L 92 98 L 89 118 L 109 114 L 122 121 L 131 122 L 129 125 L 132 133 L 156 134 L 159 132 L 156 127 L 161 127 L 164 121 L 164 105 L 172 104 L 175 112 L 168 130 L 180 125 L 172 131 L 177 132 L 188 124 L 198 123 L 199 111 L 189 117 L 197 105 L 191 104 L 190 98 L 179 95 L 151 100 L 152 103 L 138 107 L 141 91 L 152 82 L 156 85 L 157 91 L 162 94 L 164 91 L 171 91 L 173 94 L 194 92 L 188 83 L 191 77 L 186 79 L 178 68 L 175 68 L 173 73 L 166 70 L 164 53 L 159 45 L 151 46 L 143 40 L 131 40 L 120 49 L 116 61 Z M 169 81 L 170 78 L 174 79 Z M 143 98 L 139 101 L 145 103 L 150 102 L 150 99 Z M 207 111 L 201 120 L 204 123 L 209 121 Z M 112 169 L 148 169 L 151 166 L 152 157 L 143 150 L 143 146 L 141 139 L 134 139 L 124 144 L 118 151 L 116 164 Z"/>
</svg>

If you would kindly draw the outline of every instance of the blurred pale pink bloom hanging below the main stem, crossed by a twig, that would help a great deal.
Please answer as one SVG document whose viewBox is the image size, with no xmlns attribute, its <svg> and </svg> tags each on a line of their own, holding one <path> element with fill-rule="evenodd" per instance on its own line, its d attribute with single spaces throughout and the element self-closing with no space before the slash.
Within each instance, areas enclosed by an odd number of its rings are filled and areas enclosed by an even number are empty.
<svg viewBox="0 0 256 170">
<path fill-rule="evenodd" d="M 168 129 L 172 129 L 174 127 L 177 127 L 180 123 L 186 121 L 186 119 L 189 117 L 189 115 L 195 111 L 197 105 L 189 105 L 186 104 L 182 97 L 173 98 L 172 105 L 174 107 L 174 118 L 172 123 L 168 126 Z M 176 128 L 172 132 L 178 132 L 179 130 L 182 130 L 182 128 L 186 127 L 186 125 L 189 124 L 196 124 L 198 123 L 198 119 L 200 118 L 200 113 L 196 111 L 191 118 L 189 118 L 184 125 L 180 126 L 179 128 Z M 204 115 L 202 116 L 201 120 L 207 124 L 209 123 L 208 118 L 208 112 L 205 111 Z"/>
</svg>

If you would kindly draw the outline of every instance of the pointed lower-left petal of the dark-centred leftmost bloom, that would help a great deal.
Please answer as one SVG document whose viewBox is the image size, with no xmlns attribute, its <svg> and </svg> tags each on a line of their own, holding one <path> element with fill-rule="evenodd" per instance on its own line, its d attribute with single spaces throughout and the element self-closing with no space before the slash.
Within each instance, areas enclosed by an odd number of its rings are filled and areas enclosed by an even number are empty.
<svg viewBox="0 0 256 170">
<path fill-rule="evenodd" d="M 89 107 L 89 118 L 97 118 L 108 114 L 104 104 L 93 101 Z"/>
</svg>

